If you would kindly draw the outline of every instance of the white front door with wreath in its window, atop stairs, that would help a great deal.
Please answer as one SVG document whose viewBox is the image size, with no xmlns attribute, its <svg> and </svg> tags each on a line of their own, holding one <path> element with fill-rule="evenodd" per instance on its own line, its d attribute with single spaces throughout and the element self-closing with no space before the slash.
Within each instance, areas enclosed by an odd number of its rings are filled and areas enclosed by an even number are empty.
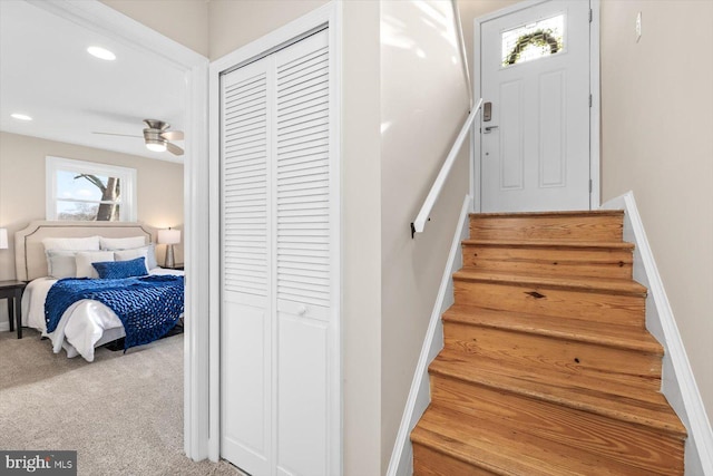
<svg viewBox="0 0 713 476">
<path fill-rule="evenodd" d="M 589 210 L 589 2 L 480 23 L 482 212 Z"/>
</svg>

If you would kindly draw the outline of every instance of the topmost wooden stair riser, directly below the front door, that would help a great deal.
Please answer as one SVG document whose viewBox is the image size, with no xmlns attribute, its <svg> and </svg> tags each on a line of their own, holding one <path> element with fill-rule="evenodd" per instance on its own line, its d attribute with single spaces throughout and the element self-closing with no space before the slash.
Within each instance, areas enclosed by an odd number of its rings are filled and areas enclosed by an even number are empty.
<svg viewBox="0 0 713 476">
<path fill-rule="evenodd" d="M 470 218 L 473 240 L 556 240 L 621 242 L 621 215 L 484 216 Z"/>
</svg>

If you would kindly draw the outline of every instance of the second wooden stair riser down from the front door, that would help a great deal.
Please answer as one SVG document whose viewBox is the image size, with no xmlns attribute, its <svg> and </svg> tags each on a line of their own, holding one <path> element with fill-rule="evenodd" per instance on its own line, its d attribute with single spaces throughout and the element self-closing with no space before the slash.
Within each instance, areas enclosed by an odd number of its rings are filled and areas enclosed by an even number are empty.
<svg viewBox="0 0 713 476">
<path fill-rule="evenodd" d="M 462 249 L 463 268 L 546 276 L 632 278 L 631 250 L 563 250 L 468 244 Z"/>
</svg>

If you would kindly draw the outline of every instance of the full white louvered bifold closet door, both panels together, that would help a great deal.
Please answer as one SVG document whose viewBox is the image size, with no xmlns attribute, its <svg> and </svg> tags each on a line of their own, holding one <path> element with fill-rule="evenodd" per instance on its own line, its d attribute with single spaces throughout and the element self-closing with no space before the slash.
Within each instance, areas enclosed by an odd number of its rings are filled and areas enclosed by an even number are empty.
<svg viewBox="0 0 713 476">
<path fill-rule="evenodd" d="M 253 476 L 331 475 L 328 30 L 225 75 L 222 90 L 222 456 Z"/>
</svg>

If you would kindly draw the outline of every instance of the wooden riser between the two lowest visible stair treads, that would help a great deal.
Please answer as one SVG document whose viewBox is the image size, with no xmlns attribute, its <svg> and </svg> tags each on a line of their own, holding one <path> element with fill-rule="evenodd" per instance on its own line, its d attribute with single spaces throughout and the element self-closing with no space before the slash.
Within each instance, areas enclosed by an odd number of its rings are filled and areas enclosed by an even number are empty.
<svg viewBox="0 0 713 476">
<path fill-rule="evenodd" d="M 431 376 L 431 401 L 480 420 L 505 417 L 536 438 L 633 466 L 625 474 L 676 474 L 683 465 L 681 439 L 585 411 L 440 376 Z"/>
</svg>

